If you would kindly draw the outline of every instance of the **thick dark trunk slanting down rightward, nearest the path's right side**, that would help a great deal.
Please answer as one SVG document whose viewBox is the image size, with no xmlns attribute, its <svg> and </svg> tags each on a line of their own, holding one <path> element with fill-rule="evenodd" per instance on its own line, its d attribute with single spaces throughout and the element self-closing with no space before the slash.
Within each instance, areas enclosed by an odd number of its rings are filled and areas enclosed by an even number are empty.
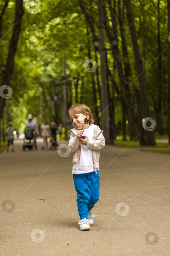
<svg viewBox="0 0 170 256">
<path fill-rule="evenodd" d="M 135 25 L 134 25 L 134 18 L 133 18 L 133 13 L 131 10 L 131 4 L 130 0 L 124 0 L 124 5 L 126 7 L 126 14 L 127 14 L 127 20 L 129 23 L 129 29 L 130 29 L 130 34 L 131 34 L 131 40 L 133 44 L 133 52 L 134 52 L 134 57 L 135 57 L 135 67 L 138 75 L 138 81 L 139 81 L 139 86 L 141 89 L 141 100 L 142 100 L 142 107 L 143 107 L 143 113 L 145 117 L 150 117 L 152 118 L 152 114 L 149 108 L 149 100 L 147 96 L 147 89 L 146 89 L 146 81 L 145 81 L 145 75 L 143 71 L 143 63 L 141 59 L 141 54 L 139 52 L 139 45 L 137 41 L 137 34 L 135 30 Z M 155 146 L 155 136 L 154 136 L 154 131 L 146 131 L 146 143 L 147 146 Z"/>
</svg>

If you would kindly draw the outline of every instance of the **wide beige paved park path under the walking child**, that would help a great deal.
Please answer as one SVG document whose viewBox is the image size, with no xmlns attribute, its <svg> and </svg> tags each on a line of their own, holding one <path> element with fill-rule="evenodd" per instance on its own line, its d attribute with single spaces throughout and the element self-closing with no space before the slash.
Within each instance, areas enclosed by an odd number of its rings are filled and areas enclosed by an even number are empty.
<svg viewBox="0 0 170 256">
<path fill-rule="evenodd" d="M 80 231 L 72 153 L 38 147 L 0 156 L 1 256 L 170 255 L 169 155 L 104 147 L 95 224 Z"/>
</svg>

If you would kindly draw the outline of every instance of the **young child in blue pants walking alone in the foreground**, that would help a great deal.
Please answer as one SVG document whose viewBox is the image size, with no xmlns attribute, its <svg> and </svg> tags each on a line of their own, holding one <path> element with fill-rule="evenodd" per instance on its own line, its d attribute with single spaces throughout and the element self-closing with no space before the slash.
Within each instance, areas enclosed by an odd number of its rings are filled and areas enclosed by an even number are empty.
<svg viewBox="0 0 170 256">
<path fill-rule="evenodd" d="M 84 119 L 89 118 L 88 124 Z M 93 225 L 91 209 L 99 200 L 100 175 L 99 157 L 100 149 L 105 145 L 103 131 L 93 124 L 93 114 L 84 104 L 75 104 L 68 111 L 68 119 L 74 127 L 70 131 L 68 146 L 73 155 L 72 174 L 77 192 L 77 205 L 80 216 L 80 230 L 89 230 Z M 81 137 L 85 136 L 86 139 Z"/>
</svg>

